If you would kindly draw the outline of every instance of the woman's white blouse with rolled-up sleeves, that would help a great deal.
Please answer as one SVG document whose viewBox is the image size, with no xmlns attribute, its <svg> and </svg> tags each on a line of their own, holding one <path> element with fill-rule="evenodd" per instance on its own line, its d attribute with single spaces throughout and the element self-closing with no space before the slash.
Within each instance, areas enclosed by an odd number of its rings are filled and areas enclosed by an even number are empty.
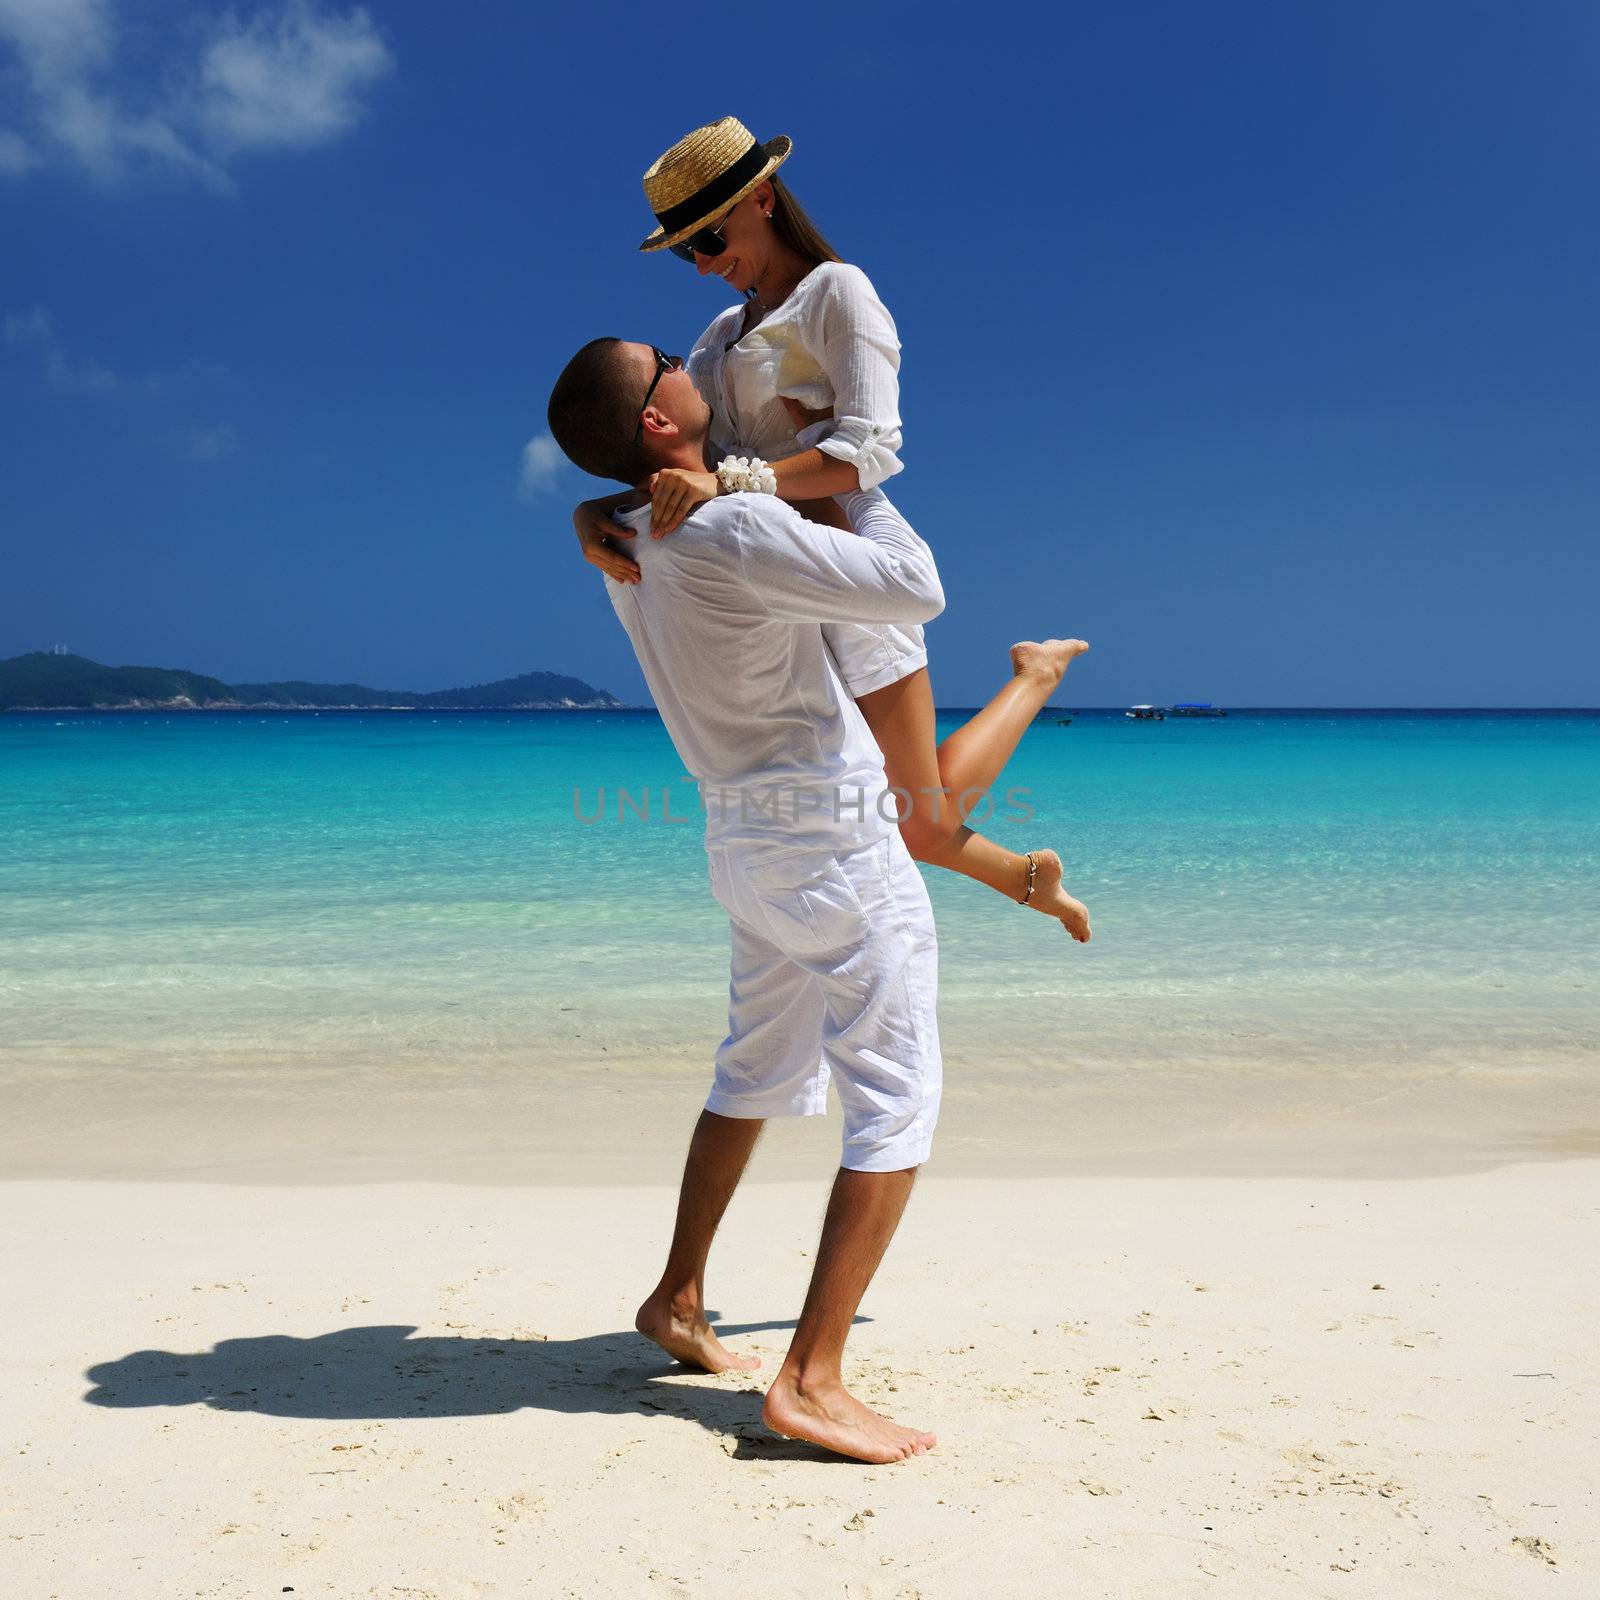
<svg viewBox="0 0 1600 1600">
<path fill-rule="evenodd" d="M 824 261 L 741 336 L 742 325 L 741 301 L 699 336 L 686 362 L 712 408 L 722 454 L 782 461 L 814 446 L 848 461 L 864 490 L 901 470 L 899 336 L 866 272 Z M 795 432 L 786 395 L 834 416 Z"/>
</svg>

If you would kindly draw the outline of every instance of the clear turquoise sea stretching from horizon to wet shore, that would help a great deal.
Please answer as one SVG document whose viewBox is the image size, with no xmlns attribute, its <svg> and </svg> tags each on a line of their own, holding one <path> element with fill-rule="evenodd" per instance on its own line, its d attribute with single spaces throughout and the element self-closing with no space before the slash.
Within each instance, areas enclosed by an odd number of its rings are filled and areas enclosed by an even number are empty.
<svg viewBox="0 0 1600 1600">
<path fill-rule="evenodd" d="M 1061 850 L 1094 942 L 930 872 L 970 1061 L 1594 1050 L 1600 715 L 1046 714 L 1005 784 L 1035 814 L 989 830 Z M 726 923 L 693 802 L 651 712 L 3 717 L 0 1051 L 32 1075 L 706 1059 Z"/>
</svg>

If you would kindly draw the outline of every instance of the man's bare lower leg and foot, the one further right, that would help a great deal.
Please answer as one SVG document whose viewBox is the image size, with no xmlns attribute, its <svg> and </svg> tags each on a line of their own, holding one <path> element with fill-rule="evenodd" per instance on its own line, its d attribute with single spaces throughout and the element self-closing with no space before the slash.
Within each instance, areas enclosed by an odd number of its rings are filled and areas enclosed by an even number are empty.
<svg viewBox="0 0 1600 1600">
<path fill-rule="evenodd" d="M 842 1368 L 850 1325 L 894 1237 L 915 1176 L 915 1166 L 898 1173 L 838 1170 L 805 1309 L 762 1411 L 773 1432 L 861 1461 L 902 1461 L 936 1443 L 933 1434 L 901 1427 L 862 1405 L 845 1387 Z"/>
</svg>

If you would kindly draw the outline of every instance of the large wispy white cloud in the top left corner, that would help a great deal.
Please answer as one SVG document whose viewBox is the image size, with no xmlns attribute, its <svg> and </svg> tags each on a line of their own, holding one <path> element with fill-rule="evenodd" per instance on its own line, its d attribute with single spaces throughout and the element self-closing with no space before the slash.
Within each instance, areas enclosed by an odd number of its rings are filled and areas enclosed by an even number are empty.
<svg viewBox="0 0 1600 1600">
<path fill-rule="evenodd" d="M 141 166 L 234 190 L 229 162 L 304 150 L 352 128 L 394 58 L 365 10 L 278 0 L 203 24 L 198 51 L 173 50 L 149 83 L 118 70 L 112 0 L 0 0 L 0 43 L 21 66 L 22 131 L 0 131 L 0 173 L 46 158 L 106 182 Z"/>
</svg>

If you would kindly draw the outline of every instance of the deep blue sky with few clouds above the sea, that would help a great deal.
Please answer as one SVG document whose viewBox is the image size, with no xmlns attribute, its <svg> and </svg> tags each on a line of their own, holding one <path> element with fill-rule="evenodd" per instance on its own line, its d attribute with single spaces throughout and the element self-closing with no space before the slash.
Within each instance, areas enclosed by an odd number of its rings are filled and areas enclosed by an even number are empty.
<svg viewBox="0 0 1600 1600">
<path fill-rule="evenodd" d="M 733 112 L 904 342 L 944 704 L 1600 704 L 1600 13 L 0 0 L 0 656 L 643 701 L 544 400 Z M 531 459 L 534 470 L 526 470 Z"/>
</svg>

